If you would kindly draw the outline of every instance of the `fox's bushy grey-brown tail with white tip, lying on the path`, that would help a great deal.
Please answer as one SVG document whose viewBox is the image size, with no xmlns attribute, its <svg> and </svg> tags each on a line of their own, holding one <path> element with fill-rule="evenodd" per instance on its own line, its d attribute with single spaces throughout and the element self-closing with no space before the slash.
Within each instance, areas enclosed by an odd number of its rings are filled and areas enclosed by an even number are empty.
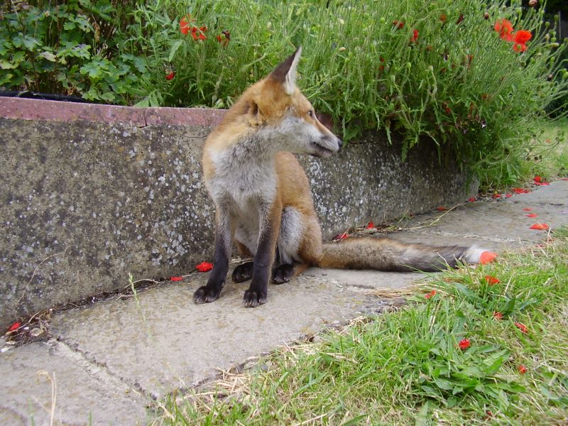
<svg viewBox="0 0 568 426">
<path fill-rule="evenodd" d="M 391 239 L 350 238 L 324 244 L 318 266 L 379 271 L 439 271 L 455 268 L 458 261 L 479 263 L 484 249 L 476 246 L 404 244 Z"/>
</svg>

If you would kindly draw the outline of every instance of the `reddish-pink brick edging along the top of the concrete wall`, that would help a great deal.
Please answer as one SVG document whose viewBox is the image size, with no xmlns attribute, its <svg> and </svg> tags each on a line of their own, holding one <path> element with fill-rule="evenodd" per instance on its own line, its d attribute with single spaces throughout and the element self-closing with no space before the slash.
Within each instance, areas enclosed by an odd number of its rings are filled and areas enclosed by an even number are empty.
<svg viewBox="0 0 568 426">
<path fill-rule="evenodd" d="M 226 110 L 205 108 L 136 108 L 0 97 L 0 117 L 38 121 L 95 121 L 136 127 L 155 125 L 216 126 Z"/>
</svg>

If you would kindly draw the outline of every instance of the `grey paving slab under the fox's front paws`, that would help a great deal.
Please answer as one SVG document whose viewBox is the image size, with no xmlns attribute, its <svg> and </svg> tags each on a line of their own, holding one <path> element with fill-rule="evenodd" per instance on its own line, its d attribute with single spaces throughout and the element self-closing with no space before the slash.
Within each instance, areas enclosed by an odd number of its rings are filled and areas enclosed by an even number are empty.
<svg viewBox="0 0 568 426">
<path fill-rule="evenodd" d="M 107 300 L 62 312 L 51 332 L 111 375 L 160 398 L 380 303 L 329 278 L 304 275 L 271 285 L 268 303 L 254 309 L 242 305 L 248 283 L 227 283 L 219 300 L 195 305 L 192 294 L 207 275 L 153 288 L 138 302 Z"/>
</svg>

